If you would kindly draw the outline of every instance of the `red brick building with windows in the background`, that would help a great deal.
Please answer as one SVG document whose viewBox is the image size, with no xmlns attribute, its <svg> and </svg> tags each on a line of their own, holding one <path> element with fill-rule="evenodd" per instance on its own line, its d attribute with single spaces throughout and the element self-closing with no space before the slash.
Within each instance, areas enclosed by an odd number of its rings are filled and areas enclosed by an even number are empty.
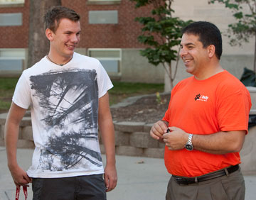
<svg viewBox="0 0 256 200">
<path fill-rule="evenodd" d="M 146 58 L 139 55 L 144 48 L 137 41 L 142 27 L 134 18 L 148 15 L 150 7 L 135 9 L 129 0 L 62 0 L 62 5 L 81 16 L 77 52 L 97 57 L 112 78 L 164 82 L 161 67 L 149 66 Z M 20 74 L 30 67 L 26 65 L 29 17 L 29 0 L 0 0 L 1 74 Z"/>
</svg>

